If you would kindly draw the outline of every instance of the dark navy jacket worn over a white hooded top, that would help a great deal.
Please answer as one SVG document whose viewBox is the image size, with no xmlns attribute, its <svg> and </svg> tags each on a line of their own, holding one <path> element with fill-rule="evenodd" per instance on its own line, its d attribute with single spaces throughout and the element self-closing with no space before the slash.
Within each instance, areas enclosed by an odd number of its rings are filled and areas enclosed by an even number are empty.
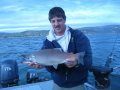
<svg viewBox="0 0 120 90">
<path fill-rule="evenodd" d="M 71 39 L 68 45 L 68 52 L 85 52 L 83 64 L 67 68 L 65 64 L 59 64 L 57 69 L 53 66 L 46 66 L 51 73 L 53 81 L 60 87 L 70 88 L 81 85 L 87 81 L 88 69 L 92 65 L 91 46 L 88 38 L 80 31 L 70 28 Z M 57 41 L 45 40 L 42 49 L 61 48 Z"/>
</svg>

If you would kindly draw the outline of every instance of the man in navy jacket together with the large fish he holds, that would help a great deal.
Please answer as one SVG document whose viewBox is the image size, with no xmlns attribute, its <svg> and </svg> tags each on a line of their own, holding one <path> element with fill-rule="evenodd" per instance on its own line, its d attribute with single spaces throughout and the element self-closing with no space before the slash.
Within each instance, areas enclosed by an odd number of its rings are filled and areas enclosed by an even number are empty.
<svg viewBox="0 0 120 90">
<path fill-rule="evenodd" d="M 42 50 L 29 56 L 34 61 L 29 65 L 45 65 L 54 81 L 53 90 L 84 90 L 92 65 L 89 39 L 80 30 L 65 24 L 66 15 L 61 7 L 51 8 L 48 18 L 53 29 Z"/>
</svg>

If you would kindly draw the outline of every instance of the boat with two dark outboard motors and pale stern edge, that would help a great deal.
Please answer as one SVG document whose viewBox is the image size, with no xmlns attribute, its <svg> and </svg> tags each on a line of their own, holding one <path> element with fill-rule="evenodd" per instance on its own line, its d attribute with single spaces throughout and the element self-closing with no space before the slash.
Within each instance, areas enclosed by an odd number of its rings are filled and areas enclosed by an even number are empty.
<svg viewBox="0 0 120 90">
<path fill-rule="evenodd" d="M 116 67 L 114 69 L 117 69 Z M 0 65 L 0 90 L 52 90 L 53 80 L 39 81 L 35 71 L 29 70 L 27 84 L 19 85 L 18 66 L 14 60 L 3 61 Z M 119 90 L 120 76 L 113 75 L 113 68 L 103 66 L 93 66 L 91 68 L 92 77 L 84 84 L 85 90 Z M 94 81 L 94 82 L 89 82 Z M 98 89 L 99 88 L 99 89 Z"/>
</svg>

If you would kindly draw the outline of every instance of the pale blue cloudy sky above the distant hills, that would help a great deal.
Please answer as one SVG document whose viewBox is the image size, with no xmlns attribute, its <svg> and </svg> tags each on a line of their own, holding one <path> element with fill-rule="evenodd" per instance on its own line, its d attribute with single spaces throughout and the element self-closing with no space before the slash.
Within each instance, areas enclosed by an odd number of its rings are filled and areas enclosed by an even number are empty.
<svg viewBox="0 0 120 90">
<path fill-rule="evenodd" d="M 69 26 L 120 24 L 120 0 L 0 0 L 0 32 L 49 30 L 54 6 L 65 10 Z"/>
</svg>

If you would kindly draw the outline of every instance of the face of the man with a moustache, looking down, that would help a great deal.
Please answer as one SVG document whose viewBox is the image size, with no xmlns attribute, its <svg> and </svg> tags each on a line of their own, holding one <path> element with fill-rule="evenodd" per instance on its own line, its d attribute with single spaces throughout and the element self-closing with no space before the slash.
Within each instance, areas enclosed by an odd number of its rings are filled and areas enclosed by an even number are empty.
<svg viewBox="0 0 120 90">
<path fill-rule="evenodd" d="M 61 35 L 65 31 L 65 20 L 62 17 L 53 17 L 50 23 L 57 35 Z"/>
</svg>

